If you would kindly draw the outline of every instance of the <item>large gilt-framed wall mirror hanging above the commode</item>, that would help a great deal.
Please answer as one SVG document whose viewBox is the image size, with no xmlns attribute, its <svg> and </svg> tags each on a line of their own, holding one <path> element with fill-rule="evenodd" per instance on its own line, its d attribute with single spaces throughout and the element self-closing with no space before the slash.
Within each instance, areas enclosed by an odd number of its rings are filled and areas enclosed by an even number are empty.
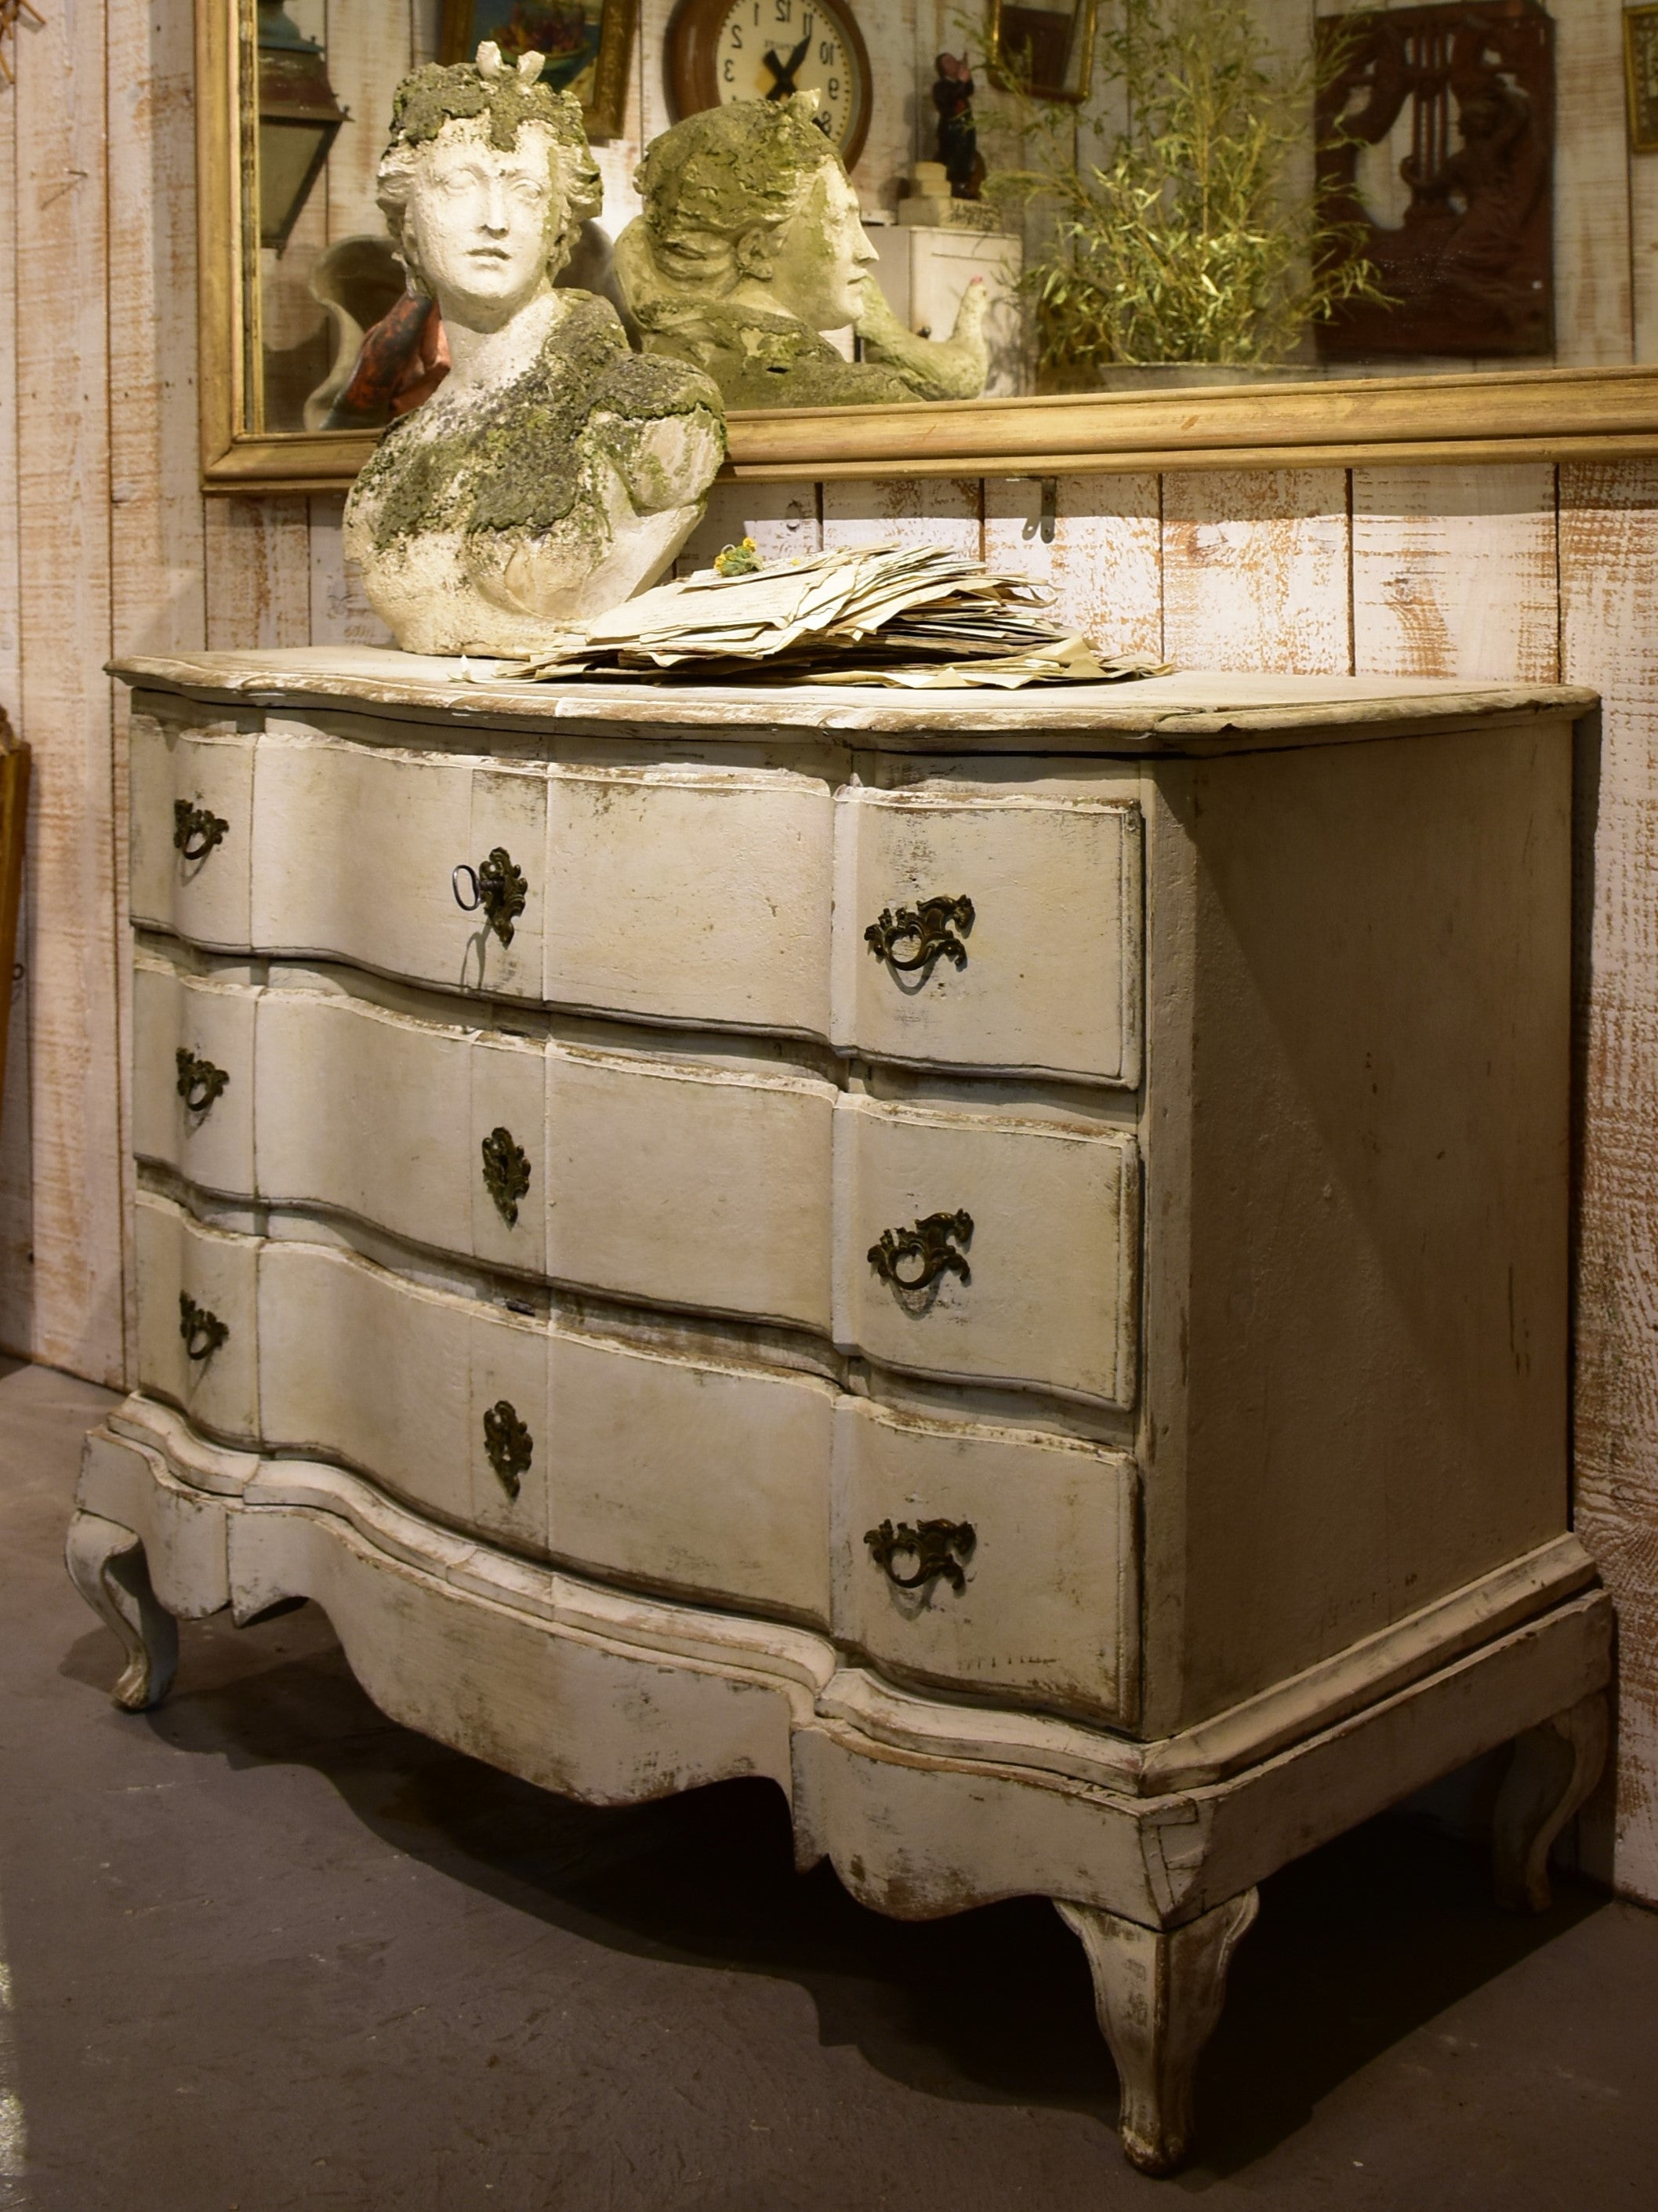
<svg viewBox="0 0 1658 2212">
<path fill-rule="evenodd" d="M 738 478 L 1658 451 L 1651 4 L 197 0 L 197 24 L 210 489 L 343 487 L 436 389 L 376 164 L 398 80 L 482 38 L 581 100 L 606 206 L 568 281 L 623 307 L 646 146 L 816 100 L 862 210 L 838 296 L 880 316 L 809 332 L 847 374 L 800 405 L 730 385 Z"/>
</svg>

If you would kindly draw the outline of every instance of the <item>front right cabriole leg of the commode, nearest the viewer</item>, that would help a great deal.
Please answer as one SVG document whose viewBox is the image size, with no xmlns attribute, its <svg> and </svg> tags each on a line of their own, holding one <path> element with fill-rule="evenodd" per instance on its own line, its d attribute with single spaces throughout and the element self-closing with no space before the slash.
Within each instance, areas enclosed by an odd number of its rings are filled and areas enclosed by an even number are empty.
<svg viewBox="0 0 1658 2212">
<path fill-rule="evenodd" d="M 1227 1966 L 1256 1918 L 1245 1889 L 1180 1929 L 1143 1929 L 1096 1905 L 1066 1905 L 1094 1975 L 1099 2026 L 1123 2093 L 1123 2152 L 1143 2174 L 1172 2174 L 1192 2143 L 1192 2081 L 1227 1995 Z"/>
</svg>

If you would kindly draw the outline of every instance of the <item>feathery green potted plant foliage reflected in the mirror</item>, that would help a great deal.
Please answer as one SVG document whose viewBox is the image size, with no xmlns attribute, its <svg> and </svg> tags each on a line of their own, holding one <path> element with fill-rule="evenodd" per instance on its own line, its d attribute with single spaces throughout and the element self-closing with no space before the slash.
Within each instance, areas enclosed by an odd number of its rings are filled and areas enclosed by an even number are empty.
<svg viewBox="0 0 1658 2212">
<path fill-rule="evenodd" d="M 1121 0 L 1101 49 L 1096 86 L 1127 106 L 1103 166 L 1077 155 L 1103 117 L 1019 82 L 990 126 L 1019 161 L 986 197 L 1048 215 L 1024 274 L 1046 369 L 1271 365 L 1342 301 L 1386 303 L 1362 228 L 1313 179 L 1313 95 L 1340 42 L 1287 62 L 1249 0 Z"/>
</svg>

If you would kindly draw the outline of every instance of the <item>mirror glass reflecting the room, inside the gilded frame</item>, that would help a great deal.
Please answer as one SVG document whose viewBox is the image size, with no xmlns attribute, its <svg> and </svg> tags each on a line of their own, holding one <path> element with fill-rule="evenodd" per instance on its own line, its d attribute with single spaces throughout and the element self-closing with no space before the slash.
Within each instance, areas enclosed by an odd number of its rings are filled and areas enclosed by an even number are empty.
<svg viewBox="0 0 1658 2212">
<path fill-rule="evenodd" d="M 626 124 L 599 148 L 606 208 L 559 279 L 623 307 L 610 237 L 641 206 L 634 175 L 668 177 L 681 144 L 663 135 L 665 7 L 639 40 L 637 0 L 210 4 L 241 35 L 243 434 L 374 431 L 440 387 L 442 323 L 405 285 L 374 168 L 398 80 L 442 60 L 458 24 L 544 53 L 590 137 L 606 117 L 588 95 Z M 623 314 L 630 336 L 701 363 L 727 407 L 1658 356 L 1658 7 L 847 7 L 873 88 L 851 181 L 818 161 L 796 204 L 802 170 L 749 177 L 743 268 L 721 257 L 736 261 L 745 223 L 712 201 L 701 243 L 681 217 L 630 234 L 650 325 Z M 710 108 L 674 128 L 727 126 Z M 844 296 L 794 296 L 789 223 L 796 246 L 851 257 Z"/>
</svg>

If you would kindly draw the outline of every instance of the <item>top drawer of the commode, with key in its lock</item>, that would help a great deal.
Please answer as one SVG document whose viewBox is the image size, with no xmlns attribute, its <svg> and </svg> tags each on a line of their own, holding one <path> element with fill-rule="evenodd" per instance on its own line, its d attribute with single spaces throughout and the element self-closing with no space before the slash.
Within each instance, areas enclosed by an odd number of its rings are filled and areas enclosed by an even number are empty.
<svg viewBox="0 0 1658 2212">
<path fill-rule="evenodd" d="M 873 1062 L 1138 1084 L 1134 796 L 831 796 L 822 765 L 495 761 L 382 728 L 139 701 L 135 920 Z"/>
</svg>

